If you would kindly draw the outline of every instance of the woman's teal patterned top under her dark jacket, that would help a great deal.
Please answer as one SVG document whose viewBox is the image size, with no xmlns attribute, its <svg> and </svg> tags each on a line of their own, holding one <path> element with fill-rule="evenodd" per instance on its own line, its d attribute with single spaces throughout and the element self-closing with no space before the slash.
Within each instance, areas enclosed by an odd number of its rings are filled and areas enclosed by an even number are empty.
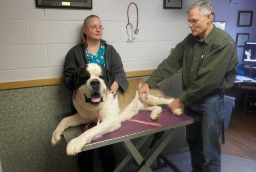
<svg viewBox="0 0 256 172">
<path fill-rule="evenodd" d="M 100 45 L 97 54 L 93 55 L 88 49 L 86 49 L 85 56 L 87 57 L 89 63 L 94 63 L 106 67 L 105 51 L 105 45 Z"/>
</svg>

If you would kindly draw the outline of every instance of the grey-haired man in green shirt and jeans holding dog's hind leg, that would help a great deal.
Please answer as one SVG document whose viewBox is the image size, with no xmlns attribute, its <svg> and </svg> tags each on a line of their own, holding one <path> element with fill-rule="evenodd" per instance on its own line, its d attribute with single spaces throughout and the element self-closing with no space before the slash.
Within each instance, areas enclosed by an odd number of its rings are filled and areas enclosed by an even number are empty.
<svg viewBox="0 0 256 172">
<path fill-rule="evenodd" d="M 237 47 L 232 37 L 213 25 L 213 7 L 208 1 L 198 1 L 187 11 L 189 34 L 163 60 L 139 90 L 148 97 L 149 88 L 170 77 L 182 67 L 185 92 L 169 104 L 169 109 L 181 108 L 199 112 L 202 123 L 186 127 L 186 139 L 192 159 L 192 171 L 221 169 L 219 136 L 222 129 L 224 90 L 233 86 L 236 78 Z"/>
</svg>

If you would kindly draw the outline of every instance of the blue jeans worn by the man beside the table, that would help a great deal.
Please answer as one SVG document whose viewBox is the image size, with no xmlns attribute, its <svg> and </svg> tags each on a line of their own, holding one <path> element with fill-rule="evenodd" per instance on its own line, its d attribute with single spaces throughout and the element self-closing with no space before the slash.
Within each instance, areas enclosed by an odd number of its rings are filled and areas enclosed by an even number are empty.
<svg viewBox="0 0 256 172">
<path fill-rule="evenodd" d="M 195 111 L 202 122 L 186 127 L 186 139 L 191 153 L 192 172 L 220 172 L 224 90 L 211 93 L 184 107 L 184 114 Z"/>
</svg>

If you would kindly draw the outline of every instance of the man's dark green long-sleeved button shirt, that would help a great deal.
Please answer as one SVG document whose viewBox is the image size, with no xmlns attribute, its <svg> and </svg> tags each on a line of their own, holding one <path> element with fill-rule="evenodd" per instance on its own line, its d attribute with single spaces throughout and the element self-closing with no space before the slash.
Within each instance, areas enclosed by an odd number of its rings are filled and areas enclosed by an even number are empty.
<svg viewBox="0 0 256 172">
<path fill-rule="evenodd" d="M 237 46 L 233 38 L 213 25 L 203 41 L 189 34 L 146 82 L 152 87 L 182 67 L 182 82 L 186 91 L 180 101 L 188 105 L 215 90 L 232 87 L 237 64 Z"/>
</svg>

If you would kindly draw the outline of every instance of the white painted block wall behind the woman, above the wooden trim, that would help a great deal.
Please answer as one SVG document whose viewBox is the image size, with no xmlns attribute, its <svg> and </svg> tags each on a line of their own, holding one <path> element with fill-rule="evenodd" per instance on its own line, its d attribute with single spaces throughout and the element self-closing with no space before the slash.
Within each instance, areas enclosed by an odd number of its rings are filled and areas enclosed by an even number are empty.
<svg viewBox="0 0 256 172">
<path fill-rule="evenodd" d="M 37 8 L 35 0 L 0 0 L 0 82 L 57 78 L 64 58 L 79 42 L 88 15 L 98 15 L 103 39 L 119 52 L 125 71 L 153 69 L 190 33 L 186 10 L 163 9 L 163 0 L 93 0 L 93 9 Z M 126 42 L 127 7 L 139 7 L 139 34 Z M 136 26 L 135 7 L 130 20 Z"/>
</svg>

